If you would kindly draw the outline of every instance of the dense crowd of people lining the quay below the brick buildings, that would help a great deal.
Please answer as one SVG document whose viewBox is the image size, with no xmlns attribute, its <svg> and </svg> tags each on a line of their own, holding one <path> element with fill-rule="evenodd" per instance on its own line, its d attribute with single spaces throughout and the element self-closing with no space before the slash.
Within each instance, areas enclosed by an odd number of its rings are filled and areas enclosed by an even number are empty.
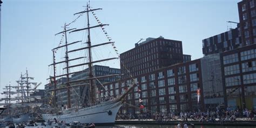
<svg viewBox="0 0 256 128">
<path fill-rule="evenodd" d="M 118 113 L 117 119 L 120 120 L 156 120 L 159 122 L 167 122 L 171 120 L 178 121 L 199 121 L 199 122 L 235 122 L 236 120 L 253 120 L 256 119 L 256 110 L 248 109 L 235 109 L 230 107 L 226 109 L 216 108 L 215 110 L 201 111 L 201 112 L 170 112 L 170 113 L 157 113 L 147 111 L 139 114 L 132 113 Z"/>
</svg>

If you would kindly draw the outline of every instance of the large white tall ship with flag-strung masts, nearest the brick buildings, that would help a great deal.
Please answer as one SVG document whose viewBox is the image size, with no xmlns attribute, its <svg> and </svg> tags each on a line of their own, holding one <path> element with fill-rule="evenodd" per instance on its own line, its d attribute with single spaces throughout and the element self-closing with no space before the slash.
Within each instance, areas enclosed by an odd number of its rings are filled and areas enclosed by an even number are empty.
<svg viewBox="0 0 256 128">
<path fill-rule="evenodd" d="M 123 93 L 123 95 L 116 97 L 116 98 L 106 98 L 107 100 L 101 100 L 99 97 L 97 98 L 98 91 L 96 86 L 102 86 L 103 82 L 101 82 L 101 79 L 110 78 L 110 77 L 116 77 L 121 76 L 120 73 L 106 75 L 106 76 L 96 76 L 95 73 L 93 73 L 93 64 L 96 63 L 107 63 L 112 60 L 119 60 L 119 54 L 116 52 L 116 46 L 114 45 L 114 42 L 111 41 L 111 38 L 107 36 L 107 32 L 105 31 L 104 26 L 109 24 L 103 24 L 99 22 L 98 17 L 96 16 L 96 12 L 98 10 L 102 10 L 100 8 L 93 9 L 90 6 L 90 2 L 87 3 L 85 6 L 85 10 L 81 12 L 77 12 L 74 14 L 77 18 L 69 23 L 65 24 L 63 26 L 64 30 L 57 33 L 56 35 L 62 35 L 62 39 L 60 39 L 59 45 L 52 49 L 53 54 L 53 63 L 49 66 L 53 66 L 53 75 L 50 76 L 50 81 L 52 85 L 52 89 L 50 89 L 51 98 L 50 98 L 50 108 L 46 108 L 44 110 L 45 113 L 42 114 L 42 118 L 45 120 L 45 122 L 49 122 L 50 120 L 53 120 L 55 122 L 65 122 L 65 123 L 71 123 L 78 121 L 80 123 L 95 123 L 95 124 L 113 124 L 116 119 L 117 112 L 119 111 L 120 107 L 123 105 L 124 100 L 128 93 L 133 89 L 136 84 L 133 84 L 132 86 L 129 86 L 127 90 Z M 83 15 L 86 15 L 86 23 L 85 28 L 71 28 L 71 24 L 75 23 L 77 19 Z M 96 21 L 96 25 L 91 25 L 90 20 L 91 17 L 94 17 L 94 20 Z M 70 27 L 70 28 L 68 28 Z M 106 42 L 105 43 L 94 43 L 91 36 L 91 31 L 94 29 L 101 29 L 103 31 L 103 35 L 106 36 Z M 84 32 L 82 35 L 85 41 L 74 41 L 69 42 L 67 35 L 75 35 L 79 34 L 79 32 Z M 86 36 L 84 36 L 86 35 Z M 96 38 L 98 39 L 98 38 Z M 101 40 L 100 40 L 101 41 Z M 99 41 L 99 42 L 100 42 Z M 85 42 L 85 43 L 84 43 Z M 70 47 L 75 44 L 85 44 L 85 46 L 79 47 L 78 49 L 75 48 L 73 50 L 70 50 Z M 110 46 L 111 50 L 114 52 L 113 57 L 104 56 L 102 58 L 98 58 L 101 55 L 108 55 L 109 53 L 104 51 L 108 49 Z M 74 47 L 74 46 L 73 46 Z M 60 60 L 59 62 L 56 62 L 56 54 L 57 51 L 61 48 L 64 48 L 64 60 Z M 71 58 L 70 54 L 78 51 L 85 51 L 82 52 L 83 56 L 78 56 L 76 58 Z M 98 56 L 93 55 L 93 53 L 98 53 Z M 96 59 L 95 59 L 96 58 Z M 76 63 L 75 65 L 71 65 L 71 62 L 78 61 L 80 59 L 83 59 L 83 63 Z M 79 62 L 79 61 L 78 61 Z M 80 61 L 81 62 L 81 61 Z M 64 72 L 62 75 L 57 75 L 56 72 L 58 72 L 57 65 L 64 65 L 63 68 L 60 68 L 60 72 Z M 83 69 L 84 68 L 84 69 Z M 75 70 L 78 69 L 78 70 Z M 85 70 L 86 69 L 86 70 Z M 70 78 L 72 74 L 75 73 L 87 73 L 87 78 L 83 79 L 77 79 L 73 80 Z M 66 82 L 64 82 L 64 85 L 61 87 L 57 87 L 57 79 L 60 77 L 65 77 Z M 75 87 L 79 87 L 80 93 L 75 92 Z M 65 91 L 60 91 L 65 90 Z M 78 99 L 75 99 L 76 102 L 79 103 L 73 103 L 73 98 L 71 101 L 71 91 L 74 91 L 72 93 L 76 93 L 78 96 Z M 62 104 L 62 109 L 58 110 L 57 108 L 57 99 L 56 95 L 59 95 L 59 93 L 65 93 L 64 95 L 67 96 L 67 103 Z M 64 109 L 63 106 L 66 106 L 66 109 Z M 55 108 L 55 109 L 54 109 Z M 48 110 L 48 111 L 47 111 Z"/>
</svg>

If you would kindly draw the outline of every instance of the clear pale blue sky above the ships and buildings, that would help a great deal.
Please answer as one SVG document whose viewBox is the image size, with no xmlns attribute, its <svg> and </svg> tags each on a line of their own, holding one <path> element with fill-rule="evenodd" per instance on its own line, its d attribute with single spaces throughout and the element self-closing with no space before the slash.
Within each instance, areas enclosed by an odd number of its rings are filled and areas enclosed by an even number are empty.
<svg viewBox="0 0 256 128">
<path fill-rule="evenodd" d="M 26 68 L 35 81 L 43 84 L 50 75 L 51 49 L 58 45 L 55 33 L 65 22 L 83 10 L 84 0 L 3 0 L 1 14 L 1 86 L 17 85 Z M 237 3 L 233 0 L 183 1 L 91 1 L 97 16 L 110 24 L 107 32 L 120 53 L 134 48 L 140 38 L 163 36 L 183 42 L 183 53 L 192 59 L 203 57 L 202 39 L 235 28 L 239 22 Z M 3 96 L 0 96 L 3 97 Z"/>
</svg>

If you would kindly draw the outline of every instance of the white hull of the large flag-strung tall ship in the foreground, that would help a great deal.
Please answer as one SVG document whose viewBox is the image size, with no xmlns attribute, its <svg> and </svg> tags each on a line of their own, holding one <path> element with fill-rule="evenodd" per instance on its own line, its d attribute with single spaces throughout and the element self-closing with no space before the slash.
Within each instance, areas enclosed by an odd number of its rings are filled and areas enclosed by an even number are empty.
<svg viewBox="0 0 256 128">
<path fill-rule="evenodd" d="M 116 119 L 116 114 L 122 102 L 104 102 L 95 106 L 85 107 L 78 112 L 68 114 L 42 114 L 45 122 L 48 120 L 64 121 L 65 123 L 72 123 L 78 121 L 80 123 L 95 123 L 95 124 L 113 124 Z M 111 114 L 110 114 L 111 113 Z"/>
</svg>

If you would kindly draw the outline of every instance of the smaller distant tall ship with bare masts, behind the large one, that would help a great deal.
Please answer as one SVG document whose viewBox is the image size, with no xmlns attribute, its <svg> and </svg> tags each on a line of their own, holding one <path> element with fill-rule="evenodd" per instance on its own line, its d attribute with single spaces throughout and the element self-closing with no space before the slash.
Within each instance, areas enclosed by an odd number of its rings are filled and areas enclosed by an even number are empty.
<svg viewBox="0 0 256 128">
<path fill-rule="evenodd" d="M 4 109 L 2 113 L 2 122 L 27 122 L 36 117 L 35 108 L 42 105 L 42 103 L 37 103 L 37 100 L 41 99 L 41 96 L 37 95 L 37 87 L 41 83 L 32 82 L 34 78 L 30 77 L 28 70 L 25 74 L 21 73 L 21 77 L 17 80 L 16 86 L 11 86 L 11 84 L 5 86 L 0 101 L 4 100 Z"/>
</svg>

